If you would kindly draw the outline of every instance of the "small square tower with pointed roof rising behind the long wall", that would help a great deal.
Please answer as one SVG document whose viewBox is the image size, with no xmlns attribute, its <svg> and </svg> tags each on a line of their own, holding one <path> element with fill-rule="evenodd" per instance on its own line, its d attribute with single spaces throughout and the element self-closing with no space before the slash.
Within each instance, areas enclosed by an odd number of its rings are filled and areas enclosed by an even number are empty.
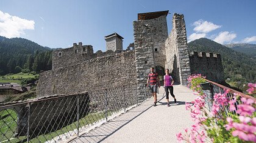
<svg viewBox="0 0 256 143">
<path fill-rule="evenodd" d="M 107 50 L 123 50 L 123 37 L 118 35 L 118 33 L 113 33 L 111 35 L 105 36 Z"/>
</svg>

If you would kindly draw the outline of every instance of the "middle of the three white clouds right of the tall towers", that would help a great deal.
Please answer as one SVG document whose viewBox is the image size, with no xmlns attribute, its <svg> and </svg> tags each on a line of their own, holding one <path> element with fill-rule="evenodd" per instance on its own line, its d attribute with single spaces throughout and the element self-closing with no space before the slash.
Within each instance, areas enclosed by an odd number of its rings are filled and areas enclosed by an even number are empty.
<svg viewBox="0 0 256 143">
<path fill-rule="evenodd" d="M 220 32 L 219 35 L 213 40 L 219 44 L 224 44 L 224 42 L 231 42 L 236 38 L 236 33 Z"/>
</svg>

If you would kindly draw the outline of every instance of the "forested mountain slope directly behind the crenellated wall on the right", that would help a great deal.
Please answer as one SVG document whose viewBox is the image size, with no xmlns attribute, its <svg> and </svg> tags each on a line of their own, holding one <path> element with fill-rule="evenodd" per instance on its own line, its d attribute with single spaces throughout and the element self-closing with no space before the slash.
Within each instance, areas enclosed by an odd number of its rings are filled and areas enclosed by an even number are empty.
<svg viewBox="0 0 256 143">
<path fill-rule="evenodd" d="M 221 54 L 226 82 L 236 88 L 241 89 L 248 82 L 256 83 L 256 59 L 249 55 L 236 52 L 207 38 L 189 42 L 188 50 Z"/>
</svg>

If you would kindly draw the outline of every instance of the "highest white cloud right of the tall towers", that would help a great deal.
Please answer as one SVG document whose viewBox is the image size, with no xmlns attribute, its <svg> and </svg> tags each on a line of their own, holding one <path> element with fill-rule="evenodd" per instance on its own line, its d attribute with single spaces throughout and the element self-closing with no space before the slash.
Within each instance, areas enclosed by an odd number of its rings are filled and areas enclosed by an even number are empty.
<svg viewBox="0 0 256 143">
<path fill-rule="evenodd" d="M 216 24 L 213 24 L 212 22 L 203 21 L 202 19 L 194 22 L 193 25 L 195 26 L 193 30 L 195 32 L 201 32 L 201 33 L 208 33 L 208 32 L 212 32 L 217 28 L 221 28 L 221 25 L 216 25 Z"/>
</svg>

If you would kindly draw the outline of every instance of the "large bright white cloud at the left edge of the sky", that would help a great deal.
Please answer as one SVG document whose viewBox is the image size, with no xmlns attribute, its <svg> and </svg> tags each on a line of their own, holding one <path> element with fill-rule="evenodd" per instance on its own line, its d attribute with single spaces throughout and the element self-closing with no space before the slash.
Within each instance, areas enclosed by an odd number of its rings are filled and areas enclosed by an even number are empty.
<svg viewBox="0 0 256 143">
<path fill-rule="evenodd" d="M 11 16 L 0 10 L 0 35 L 7 38 L 20 37 L 25 35 L 24 30 L 34 30 L 35 22 L 22 19 L 17 16 Z"/>
</svg>

